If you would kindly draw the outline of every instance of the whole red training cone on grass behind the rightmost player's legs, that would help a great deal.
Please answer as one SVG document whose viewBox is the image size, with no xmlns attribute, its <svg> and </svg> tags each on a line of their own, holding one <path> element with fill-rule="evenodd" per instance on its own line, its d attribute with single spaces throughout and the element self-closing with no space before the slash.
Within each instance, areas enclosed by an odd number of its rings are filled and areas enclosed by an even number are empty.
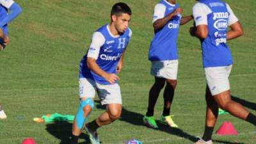
<svg viewBox="0 0 256 144">
<path fill-rule="evenodd" d="M 223 122 L 223 124 L 220 126 L 220 128 L 215 132 L 215 134 L 218 134 L 220 136 L 225 135 L 238 135 L 236 129 L 231 124 L 231 122 Z"/>
</svg>

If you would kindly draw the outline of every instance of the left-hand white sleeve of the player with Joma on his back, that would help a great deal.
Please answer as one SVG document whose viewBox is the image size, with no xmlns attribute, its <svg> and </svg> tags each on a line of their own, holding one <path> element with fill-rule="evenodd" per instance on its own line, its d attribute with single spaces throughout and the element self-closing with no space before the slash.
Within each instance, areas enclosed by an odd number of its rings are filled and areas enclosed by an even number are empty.
<svg viewBox="0 0 256 144">
<path fill-rule="evenodd" d="M 209 13 L 211 13 L 211 9 L 203 4 L 203 3 L 196 3 L 194 6 L 193 6 L 193 17 L 194 17 L 194 20 L 195 20 L 195 23 L 196 23 L 196 26 L 199 26 L 199 25 L 207 25 L 207 15 Z"/>
</svg>

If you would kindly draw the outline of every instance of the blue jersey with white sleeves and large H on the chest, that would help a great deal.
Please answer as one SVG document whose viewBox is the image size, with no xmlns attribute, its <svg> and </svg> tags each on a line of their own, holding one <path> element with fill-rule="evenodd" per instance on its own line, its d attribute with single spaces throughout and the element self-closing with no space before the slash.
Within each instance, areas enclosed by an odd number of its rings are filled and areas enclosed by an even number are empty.
<svg viewBox="0 0 256 144">
<path fill-rule="evenodd" d="M 132 31 L 127 28 L 122 35 L 113 36 L 108 26 L 106 24 L 93 33 L 90 48 L 80 62 L 79 78 L 86 77 L 100 84 L 110 84 L 87 67 L 86 60 L 88 57 L 94 58 L 97 65 L 105 72 L 116 74 L 116 66 L 129 43 Z"/>
</svg>

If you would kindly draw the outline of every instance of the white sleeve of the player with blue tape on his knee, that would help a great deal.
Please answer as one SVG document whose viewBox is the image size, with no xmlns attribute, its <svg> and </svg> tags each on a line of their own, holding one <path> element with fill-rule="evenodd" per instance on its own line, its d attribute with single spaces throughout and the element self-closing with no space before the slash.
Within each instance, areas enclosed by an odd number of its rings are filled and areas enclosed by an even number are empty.
<svg viewBox="0 0 256 144">
<path fill-rule="evenodd" d="M 98 31 L 94 32 L 92 36 L 92 43 L 87 53 L 87 57 L 97 60 L 99 57 L 100 47 L 104 45 L 104 42 L 104 36 Z"/>
</svg>

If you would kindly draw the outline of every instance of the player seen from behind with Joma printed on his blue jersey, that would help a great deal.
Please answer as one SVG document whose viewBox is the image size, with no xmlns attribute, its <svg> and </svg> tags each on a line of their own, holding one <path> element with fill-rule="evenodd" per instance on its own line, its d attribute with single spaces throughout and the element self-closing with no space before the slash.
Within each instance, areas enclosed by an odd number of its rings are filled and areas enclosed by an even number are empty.
<svg viewBox="0 0 256 144">
<path fill-rule="evenodd" d="M 243 35 L 243 29 L 230 6 L 221 0 L 202 0 L 193 6 L 195 27 L 191 35 L 200 39 L 207 103 L 205 131 L 195 144 L 211 144 L 212 131 L 218 117 L 218 108 L 256 125 L 256 117 L 230 97 L 228 76 L 232 68 L 232 56 L 227 40 Z M 230 30 L 227 31 L 228 26 Z"/>
</svg>

